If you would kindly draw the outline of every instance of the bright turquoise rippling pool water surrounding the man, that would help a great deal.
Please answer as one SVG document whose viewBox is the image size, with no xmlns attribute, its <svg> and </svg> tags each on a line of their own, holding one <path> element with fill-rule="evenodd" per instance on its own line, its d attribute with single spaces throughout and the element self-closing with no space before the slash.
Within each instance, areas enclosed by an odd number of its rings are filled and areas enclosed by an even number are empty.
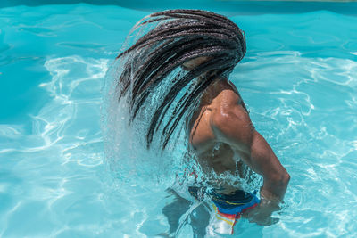
<svg viewBox="0 0 357 238">
<path fill-rule="evenodd" d="M 160 173 L 137 162 L 122 176 L 121 161 L 105 159 L 100 127 L 105 72 L 146 14 L 89 4 L 0 9 L 0 237 L 168 230 L 164 190 L 179 168 L 126 148 Z M 241 220 L 236 236 L 354 237 L 357 18 L 318 11 L 231 19 L 245 29 L 248 52 L 230 79 L 292 176 L 279 222 Z M 182 224 L 178 236 L 192 237 Z"/>
</svg>

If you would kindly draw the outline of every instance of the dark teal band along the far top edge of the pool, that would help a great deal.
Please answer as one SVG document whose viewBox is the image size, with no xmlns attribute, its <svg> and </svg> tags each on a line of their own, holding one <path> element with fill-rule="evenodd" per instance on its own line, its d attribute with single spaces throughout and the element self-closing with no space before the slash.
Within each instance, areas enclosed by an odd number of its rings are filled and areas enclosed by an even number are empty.
<svg viewBox="0 0 357 238">
<path fill-rule="evenodd" d="M 340 14 L 357 15 L 356 1 L 227 1 L 227 0 L 3 0 L 1 7 L 17 5 L 39 6 L 45 4 L 96 4 L 119 5 L 129 9 L 155 12 L 167 9 L 192 8 L 225 13 L 229 16 L 238 14 L 286 14 L 313 11 L 330 11 Z"/>
</svg>

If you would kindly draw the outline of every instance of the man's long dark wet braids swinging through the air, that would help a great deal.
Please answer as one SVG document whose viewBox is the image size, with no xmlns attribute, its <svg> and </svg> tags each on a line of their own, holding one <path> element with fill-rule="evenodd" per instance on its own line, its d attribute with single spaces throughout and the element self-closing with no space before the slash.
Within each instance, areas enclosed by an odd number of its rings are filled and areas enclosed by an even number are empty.
<svg viewBox="0 0 357 238">
<path fill-rule="evenodd" d="M 127 98 L 129 121 L 143 109 L 150 114 L 146 146 L 160 131 L 163 150 L 179 122 L 190 119 L 203 91 L 218 78 L 228 78 L 242 60 L 245 34 L 225 16 L 200 10 L 155 12 L 138 21 L 132 32 L 145 27 L 148 32 L 117 56 L 124 61 L 118 96 Z M 180 68 L 201 56 L 208 60 L 192 70 Z M 150 100 L 154 108 L 145 103 Z"/>
</svg>

